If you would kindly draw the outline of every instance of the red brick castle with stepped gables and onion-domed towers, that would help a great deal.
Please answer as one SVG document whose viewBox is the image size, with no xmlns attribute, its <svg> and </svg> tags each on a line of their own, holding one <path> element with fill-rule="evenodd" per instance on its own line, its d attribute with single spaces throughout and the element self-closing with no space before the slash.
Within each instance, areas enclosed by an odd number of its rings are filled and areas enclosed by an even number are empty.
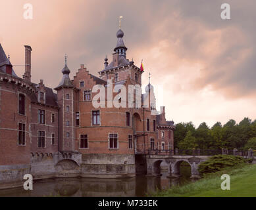
<svg viewBox="0 0 256 210">
<path fill-rule="evenodd" d="M 173 149 L 174 122 L 166 121 L 165 107 L 152 114 L 157 111 L 150 83 L 139 93 L 149 106 L 143 100 L 136 106 L 138 98 L 134 107 L 109 108 L 108 99 L 93 106 L 95 85 L 141 87 L 143 71 L 126 58 L 123 36 L 118 30 L 113 60 L 105 58 L 99 77 L 81 64 L 71 80 L 65 61 L 54 90 L 42 79 L 32 83 L 30 46 L 24 46 L 25 71 L 18 77 L 0 43 L 0 189 L 21 186 L 25 174 L 34 179 L 134 177 L 147 169 L 147 150 Z"/>
</svg>

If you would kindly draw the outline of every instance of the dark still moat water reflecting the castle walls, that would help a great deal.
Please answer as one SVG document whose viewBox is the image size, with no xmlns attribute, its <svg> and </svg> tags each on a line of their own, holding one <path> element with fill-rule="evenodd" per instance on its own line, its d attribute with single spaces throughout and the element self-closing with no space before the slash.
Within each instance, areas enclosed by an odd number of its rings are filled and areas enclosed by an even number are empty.
<svg viewBox="0 0 256 210">
<path fill-rule="evenodd" d="M 74 196 L 74 197 L 136 197 L 147 196 L 156 190 L 182 186 L 191 182 L 190 167 L 181 166 L 182 177 L 167 178 L 168 172 L 161 170 L 161 177 L 137 176 L 129 179 L 88 179 L 57 178 L 37 180 L 33 190 L 14 188 L 0 190 L 0 196 L 9 197 L 42 197 L 42 196 Z"/>
</svg>

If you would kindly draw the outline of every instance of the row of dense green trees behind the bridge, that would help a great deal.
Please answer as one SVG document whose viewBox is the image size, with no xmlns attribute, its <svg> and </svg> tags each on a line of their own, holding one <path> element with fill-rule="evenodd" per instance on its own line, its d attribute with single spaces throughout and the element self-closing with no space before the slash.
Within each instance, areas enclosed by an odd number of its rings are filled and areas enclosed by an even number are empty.
<svg viewBox="0 0 256 210">
<path fill-rule="evenodd" d="M 195 128 L 192 122 L 176 124 L 174 148 L 180 150 L 256 150 L 256 119 L 245 117 L 240 123 L 230 119 L 222 126 L 220 122 L 209 127 L 203 122 Z"/>
</svg>

